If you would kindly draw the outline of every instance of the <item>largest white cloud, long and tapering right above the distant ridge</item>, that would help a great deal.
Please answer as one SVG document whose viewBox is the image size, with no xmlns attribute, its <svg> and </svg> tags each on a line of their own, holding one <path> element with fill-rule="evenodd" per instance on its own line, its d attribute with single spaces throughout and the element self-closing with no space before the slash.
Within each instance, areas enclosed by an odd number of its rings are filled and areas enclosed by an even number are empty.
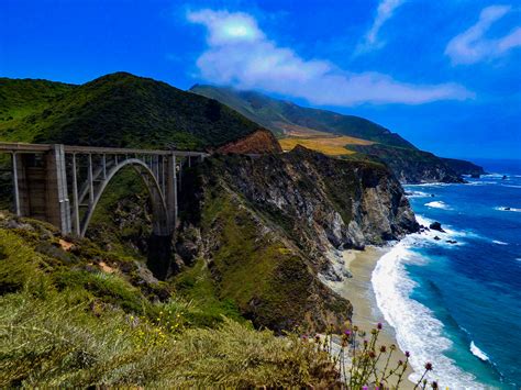
<svg viewBox="0 0 521 390">
<path fill-rule="evenodd" d="M 410 85 L 378 73 L 350 73 L 279 47 L 245 13 L 201 10 L 188 20 L 208 30 L 208 49 L 197 60 L 200 76 L 240 89 L 262 89 L 323 105 L 420 104 L 464 100 L 473 93 L 455 83 Z"/>
</svg>

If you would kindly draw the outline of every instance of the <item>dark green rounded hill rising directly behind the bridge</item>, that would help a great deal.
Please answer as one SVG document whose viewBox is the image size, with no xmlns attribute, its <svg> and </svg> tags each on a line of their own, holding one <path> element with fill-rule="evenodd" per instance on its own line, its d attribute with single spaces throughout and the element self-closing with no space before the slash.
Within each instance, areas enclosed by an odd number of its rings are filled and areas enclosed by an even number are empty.
<svg viewBox="0 0 521 390">
<path fill-rule="evenodd" d="M 3 141 L 203 149 L 262 130 L 217 100 L 126 73 L 81 86 L 1 79 L 0 99 Z"/>
</svg>

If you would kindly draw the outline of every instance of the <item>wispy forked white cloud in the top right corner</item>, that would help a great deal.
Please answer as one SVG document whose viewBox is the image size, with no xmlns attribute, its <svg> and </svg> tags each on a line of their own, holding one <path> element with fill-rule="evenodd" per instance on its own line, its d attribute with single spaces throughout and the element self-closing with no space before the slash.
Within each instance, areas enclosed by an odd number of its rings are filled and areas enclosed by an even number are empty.
<svg viewBox="0 0 521 390">
<path fill-rule="evenodd" d="M 511 11 L 509 5 L 485 8 L 476 24 L 448 42 L 445 54 L 454 65 L 476 64 L 506 55 L 521 46 L 521 27 L 513 29 L 499 38 L 487 38 L 485 34 L 497 21 Z"/>
</svg>

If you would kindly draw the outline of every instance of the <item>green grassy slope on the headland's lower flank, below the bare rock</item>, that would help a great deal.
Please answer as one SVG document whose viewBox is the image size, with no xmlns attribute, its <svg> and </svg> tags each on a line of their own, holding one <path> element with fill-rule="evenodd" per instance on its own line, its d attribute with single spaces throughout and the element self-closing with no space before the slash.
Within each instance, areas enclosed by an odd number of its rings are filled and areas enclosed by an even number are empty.
<svg viewBox="0 0 521 390">
<path fill-rule="evenodd" d="M 217 196 L 202 214 L 203 230 L 221 243 L 212 270 L 220 296 L 236 302 L 257 325 L 280 331 L 303 320 L 313 282 L 306 261 L 275 234 L 259 234 L 248 212 L 229 194 Z"/>
</svg>

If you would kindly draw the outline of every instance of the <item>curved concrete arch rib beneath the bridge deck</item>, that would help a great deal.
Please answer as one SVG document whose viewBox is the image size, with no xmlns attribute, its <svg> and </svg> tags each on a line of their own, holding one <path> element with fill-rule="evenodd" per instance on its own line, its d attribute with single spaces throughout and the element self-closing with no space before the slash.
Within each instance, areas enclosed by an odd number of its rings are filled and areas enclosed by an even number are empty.
<svg viewBox="0 0 521 390">
<path fill-rule="evenodd" d="M 107 186 L 110 183 L 112 178 L 118 175 L 123 168 L 131 166 L 133 167 L 148 191 L 148 194 L 152 200 L 152 210 L 153 210 L 153 232 L 155 235 L 165 236 L 171 233 L 171 223 L 169 221 L 169 213 L 168 208 L 165 199 L 165 194 L 162 191 L 159 182 L 157 181 L 154 172 L 151 168 L 138 158 L 126 158 L 121 163 L 118 163 L 113 166 L 106 175 L 103 180 L 100 182 L 99 187 L 97 188 L 97 193 L 93 197 L 92 202 L 89 203 L 89 208 L 87 209 L 86 214 L 82 218 L 81 225 L 80 225 L 80 236 L 84 237 L 87 233 L 87 229 L 89 227 L 90 220 L 96 211 L 99 200 L 101 199 L 102 194 Z"/>
</svg>

